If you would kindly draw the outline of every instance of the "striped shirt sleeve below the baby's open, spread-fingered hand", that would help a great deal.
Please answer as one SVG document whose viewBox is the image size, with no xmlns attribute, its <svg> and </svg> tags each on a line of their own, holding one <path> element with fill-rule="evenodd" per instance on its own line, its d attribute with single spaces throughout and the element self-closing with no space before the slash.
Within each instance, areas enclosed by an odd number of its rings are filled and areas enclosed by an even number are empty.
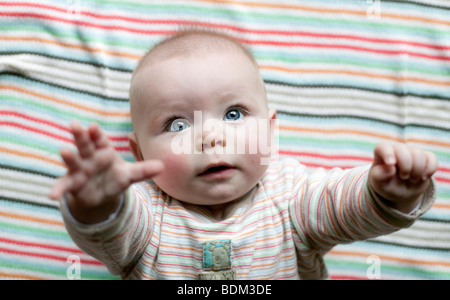
<svg viewBox="0 0 450 300">
<path fill-rule="evenodd" d="M 139 186 L 132 185 L 123 194 L 119 210 L 108 220 L 93 225 L 75 220 L 67 202 L 61 202 L 61 213 L 72 240 L 114 275 L 126 275 L 133 268 L 151 236 L 151 205 L 143 195 Z"/>
</svg>

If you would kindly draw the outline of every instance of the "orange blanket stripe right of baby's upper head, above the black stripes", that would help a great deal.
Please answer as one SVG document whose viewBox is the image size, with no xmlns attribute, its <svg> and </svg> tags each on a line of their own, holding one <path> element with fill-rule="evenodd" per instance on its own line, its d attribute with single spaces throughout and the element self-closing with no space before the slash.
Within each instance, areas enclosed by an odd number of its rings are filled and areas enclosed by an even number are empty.
<svg viewBox="0 0 450 300">
<path fill-rule="evenodd" d="M 427 84 L 433 84 L 433 85 L 450 86 L 450 82 L 446 82 L 446 81 L 423 79 L 423 78 L 419 78 L 419 77 L 403 77 L 403 76 L 369 74 L 369 73 L 349 71 L 349 70 L 331 70 L 331 69 L 312 70 L 312 69 L 297 69 L 297 68 L 286 68 L 286 67 L 280 67 L 280 66 L 264 66 L 264 65 L 260 66 L 260 69 L 276 70 L 276 71 L 282 71 L 282 72 L 288 72 L 288 73 L 302 73 L 302 74 L 306 74 L 306 73 L 347 74 L 347 75 L 362 76 L 362 77 L 368 77 L 368 78 L 388 79 L 388 80 L 393 80 L 393 81 L 412 81 L 412 82 L 420 82 L 420 83 L 427 83 Z"/>
</svg>

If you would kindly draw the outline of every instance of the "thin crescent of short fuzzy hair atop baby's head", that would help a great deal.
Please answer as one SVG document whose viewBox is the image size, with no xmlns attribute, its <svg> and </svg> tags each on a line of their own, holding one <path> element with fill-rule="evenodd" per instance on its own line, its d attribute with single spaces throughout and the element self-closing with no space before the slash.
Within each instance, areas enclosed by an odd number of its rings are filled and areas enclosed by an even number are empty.
<svg viewBox="0 0 450 300">
<path fill-rule="evenodd" d="M 237 50 L 247 56 L 258 68 L 258 64 L 250 50 L 235 38 L 207 29 L 184 29 L 157 43 L 140 60 L 134 70 L 137 73 L 143 65 L 175 56 L 202 55 L 205 51 Z"/>
</svg>

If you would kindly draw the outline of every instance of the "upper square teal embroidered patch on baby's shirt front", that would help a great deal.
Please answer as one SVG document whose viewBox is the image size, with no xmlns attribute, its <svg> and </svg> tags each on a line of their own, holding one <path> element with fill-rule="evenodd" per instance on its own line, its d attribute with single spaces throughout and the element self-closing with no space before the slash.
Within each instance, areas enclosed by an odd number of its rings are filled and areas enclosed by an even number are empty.
<svg viewBox="0 0 450 300">
<path fill-rule="evenodd" d="M 231 240 L 203 243 L 203 270 L 220 271 L 231 268 Z"/>
</svg>

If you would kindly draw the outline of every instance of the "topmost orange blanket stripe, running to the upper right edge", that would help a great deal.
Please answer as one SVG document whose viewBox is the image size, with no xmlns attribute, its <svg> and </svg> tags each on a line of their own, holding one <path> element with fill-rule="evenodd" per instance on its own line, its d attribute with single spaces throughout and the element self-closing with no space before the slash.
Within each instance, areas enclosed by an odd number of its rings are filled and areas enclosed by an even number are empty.
<svg viewBox="0 0 450 300">
<path fill-rule="evenodd" d="M 235 4 L 242 6 L 250 6 L 250 7 L 262 7 L 262 8 L 281 8 L 288 10 L 302 10 L 302 11 L 310 11 L 310 12 L 318 12 L 318 13 L 333 13 L 333 14 L 349 14 L 349 15 L 357 15 L 367 17 L 366 8 L 364 10 L 350 10 L 350 9 L 326 9 L 326 8 L 317 8 L 310 7 L 304 5 L 294 5 L 294 4 L 275 4 L 275 3 L 255 3 L 255 2 L 241 2 L 234 0 L 197 0 L 201 2 L 211 2 L 211 3 L 221 3 L 221 4 Z M 367 6 L 369 8 L 369 6 Z M 406 16 L 399 14 L 387 14 L 381 12 L 381 17 L 383 18 L 392 18 L 392 19 L 400 19 L 400 20 L 408 20 L 408 21 L 419 21 L 424 23 L 434 23 L 434 24 L 442 24 L 450 26 L 449 21 L 437 20 L 435 18 L 424 18 L 424 17 L 415 17 L 415 16 Z"/>
</svg>

